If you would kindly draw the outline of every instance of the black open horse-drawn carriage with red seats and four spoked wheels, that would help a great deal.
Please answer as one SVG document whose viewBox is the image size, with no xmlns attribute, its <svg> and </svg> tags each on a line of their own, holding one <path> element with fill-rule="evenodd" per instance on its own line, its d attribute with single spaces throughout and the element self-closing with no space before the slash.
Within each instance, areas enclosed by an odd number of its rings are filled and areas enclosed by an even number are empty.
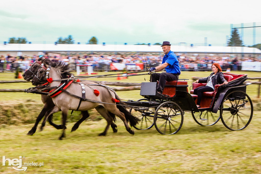
<svg viewBox="0 0 261 174">
<path fill-rule="evenodd" d="M 156 92 L 157 82 L 141 83 L 140 95 L 143 99 L 128 100 L 129 111 L 140 118 L 135 129 L 150 129 L 155 125 L 161 134 L 176 134 L 182 127 L 184 112 L 191 112 L 193 119 L 201 126 L 211 126 L 220 119 L 229 130 L 242 130 L 248 126 L 253 116 L 253 104 L 246 94 L 243 83 L 247 74 L 224 73 L 228 84 L 216 85 L 213 92 L 204 92 L 197 108 L 197 95 L 193 90 L 202 83 L 192 83 L 188 91 L 188 79 L 166 82 L 162 95 Z"/>
</svg>

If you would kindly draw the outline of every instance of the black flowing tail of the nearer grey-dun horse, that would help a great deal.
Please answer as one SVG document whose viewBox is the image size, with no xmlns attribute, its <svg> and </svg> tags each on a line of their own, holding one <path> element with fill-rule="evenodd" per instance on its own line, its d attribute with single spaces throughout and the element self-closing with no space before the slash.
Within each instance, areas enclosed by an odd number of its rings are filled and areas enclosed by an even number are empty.
<svg viewBox="0 0 261 174">
<path fill-rule="evenodd" d="M 127 123 L 129 122 L 129 124 L 131 126 L 137 125 L 139 123 L 140 119 L 138 117 L 135 117 L 134 115 L 132 115 L 124 106 L 120 106 L 120 105 L 126 105 L 126 104 L 123 101 L 121 101 L 120 97 L 117 96 L 116 94 L 115 94 L 115 98 L 120 101 L 117 103 L 119 105 L 116 105 L 116 106 L 119 109 L 119 111 L 121 111 L 125 115 L 125 119 L 126 119 Z"/>
</svg>

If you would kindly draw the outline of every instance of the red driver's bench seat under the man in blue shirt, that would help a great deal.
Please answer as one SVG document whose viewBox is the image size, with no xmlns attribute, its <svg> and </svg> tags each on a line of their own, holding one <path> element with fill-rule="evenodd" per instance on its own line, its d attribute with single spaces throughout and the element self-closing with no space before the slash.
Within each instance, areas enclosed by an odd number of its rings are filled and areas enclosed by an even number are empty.
<svg viewBox="0 0 261 174">
<path fill-rule="evenodd" d="M 181 79 L 166 82 L 162 94 L 173 97 L 176 94 L 176 90 L 188 92 L 188 88 L 187 88 L 188 82 L 187 81 L 180 81 L 180 80 Z M 157 81 L 157 84 L 159 84 L 159 81 Z"/>
</svg>

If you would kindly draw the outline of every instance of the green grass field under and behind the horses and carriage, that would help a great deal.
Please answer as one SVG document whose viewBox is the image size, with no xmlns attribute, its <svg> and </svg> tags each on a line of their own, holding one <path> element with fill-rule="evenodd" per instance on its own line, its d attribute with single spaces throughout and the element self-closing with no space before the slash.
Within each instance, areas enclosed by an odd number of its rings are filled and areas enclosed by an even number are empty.
<svg viewBox="0 0 261 174">
<path fill-rule="evenodd" d="M 261 77 L 258 72 L 241 73 L 247 73 L 248 77 Z M 188 84 L 191 84 L 192 76 L 206 77 L 209 74 L 210 72 L 182 72 L 179 78 L 189 79 Z M 1 73 L 0 80 L 13 80 L 13 76 L 14 73 Z M 149 76 L 146 75 L 120 82 L 144 82 L 144 78 L 149 81 Z M 114 82 L 116 78 L 92 80 Z M 0 89 L 32 87 L 31 83 L 0 86 Z M 142 98 L 139 90 L 117 94 L 124 100 Z M 131 135 L 120 119 L 116 122 L 118 132 L 113 133 L 109 129 L 103 137 L 97 135 L 105 128 L 104 119 L 86 120 L 75 132 L 70 132 L 74 123 L 69 121 L 67 136 L 62 141 L 58 140 L 61 130 L 56 130 L 48 123 L 41 132 L 38 127 L 33 136 L 26 135 L 33 126 L 30 122 L 1 124 L 2 156 L 11 160 L 24 156 L 21 158 L 22 163 L 43 162 L 44 165 L 27 166 L 24 172 L 12 168 L 17 166 L 8 166 L 8 161 L 5 166 L 0 161 L 0 173 L 260 173 L 261 111 L 257 105 L 260 101 L 256 98 L 257 85 L 248 85 L 247 94 L 255 101 L 254 114 L 248 127 L 241 131 L 228 130 L 221 120 L 213 126 L 200 126 L 190 113 L 185 113 L 181 130 L 170 136 L 159 134 L 155 127 L 143 131 L 132 128 L 135 135 Z M 40 95 L 37 94 L 0 92 L 0 97 L 0 104 L 5 107 L 17 107 L 21 103 L 41 106 Z M 35 118 L 36 113 L 32 113 Z M 19 112 L 13 113 L 13 119 L 16 117 L 20 117 Z M 59 117 L 59 114 L 54 117 Z M 59 119 L 55 123 L 60 124 Z"/>
</svg>

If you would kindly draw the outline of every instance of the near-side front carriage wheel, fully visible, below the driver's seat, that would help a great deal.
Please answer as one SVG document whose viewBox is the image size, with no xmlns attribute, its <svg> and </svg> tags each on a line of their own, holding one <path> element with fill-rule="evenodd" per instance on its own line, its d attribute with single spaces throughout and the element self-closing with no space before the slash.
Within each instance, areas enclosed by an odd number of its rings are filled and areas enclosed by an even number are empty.
<svg viewBox="0 0 261 174">
<path fill-rule="evenodd" d="M 153 120 L 160 134 L 176 134 L 183 124 L 183 112 L 176 103 L 164 102 L 157 107 Z"/>
</svg>

